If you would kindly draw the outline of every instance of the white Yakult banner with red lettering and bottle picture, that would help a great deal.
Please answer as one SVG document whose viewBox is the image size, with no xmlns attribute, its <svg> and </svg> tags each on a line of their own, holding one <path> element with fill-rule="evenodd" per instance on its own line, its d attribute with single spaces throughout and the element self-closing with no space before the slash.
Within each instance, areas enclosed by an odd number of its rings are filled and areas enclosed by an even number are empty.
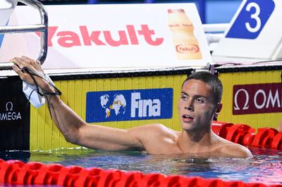
<svg viewBox="0 0 282 187">
<path fill-rule="evenodd" d="M 49 49 L 45 69 L 185 67 L 212 63 L 195 4 L 46 6 Z M 18 6 L 9 25 L 39 23 Z M 5 34 L 0 60 L 39 56 L 39 33 Z"/>
</svg>

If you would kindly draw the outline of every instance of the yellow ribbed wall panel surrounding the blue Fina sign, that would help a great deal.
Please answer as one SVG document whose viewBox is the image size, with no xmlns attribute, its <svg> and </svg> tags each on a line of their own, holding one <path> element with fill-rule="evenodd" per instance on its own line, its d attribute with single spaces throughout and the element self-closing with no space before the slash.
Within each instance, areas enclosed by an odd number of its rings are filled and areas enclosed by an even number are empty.
<svg viewBox="0 0 282 187">
<path fill-rule="evenodd" d="M 180 87 L 187 75 L 171 75 L 157 77 L 130 77 L 116 79 L 83 79 L 57 81 L 56 86 L 63 92 L 61 99 L 82 120 L 86 116 L 86 93 L 88 91 L 111 91 L 130 89 L 173 88 L 173 117 L 167 120 L 136 120 L 125 122 L 97 123 L 109 127 L 127 129 L 141 124 L 162 123 L 172 129 L 180 130 L 177 103 Z M 56 148 L 75 148 L 78 146 L 67 143 L 63 135 L 49 117 L 47 105 L 30 110 L 30 150 L 54 150 Z"/>
</svg>

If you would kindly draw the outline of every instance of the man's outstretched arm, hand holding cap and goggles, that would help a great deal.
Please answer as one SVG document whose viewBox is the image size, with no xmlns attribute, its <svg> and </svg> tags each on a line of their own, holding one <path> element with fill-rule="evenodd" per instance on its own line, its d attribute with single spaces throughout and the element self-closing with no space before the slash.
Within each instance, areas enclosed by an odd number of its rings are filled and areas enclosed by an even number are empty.
<svg viewBox="0 0 282 187">
<path fill-rule="evenodd" d="M 59 96 L 52 94 L 56 93 L 54 86 L 51 86 L 42 77 L 33 75 L 44 76 L 38 60 L 23 56 L 13 58 L 11 62 L 15 63 L 13 70 L 20 76 L 20 79 L 27 84 L 38 85 L 43 93 L 48 93 L 44 96 L 48 101 L 51 118 L 66 141 L 101 150 L 144 150 L 140 139 L 137 138 L 140 134 L 138 127 L 125 130 L 90 125 L 84 122 L 66 103 L 61 101 Z"/>
</svg>

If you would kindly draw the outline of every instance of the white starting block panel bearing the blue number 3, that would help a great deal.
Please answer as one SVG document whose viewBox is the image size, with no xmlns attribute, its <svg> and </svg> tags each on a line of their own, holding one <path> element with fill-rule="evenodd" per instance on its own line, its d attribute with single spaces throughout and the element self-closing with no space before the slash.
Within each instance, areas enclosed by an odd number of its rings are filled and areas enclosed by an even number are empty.
<svg viewBox="0 0 282 187">
<path fill-rule="evenodd" d="M 281 15 L 281 0 L 243 1 L 213 56 L 281 58 Z"/>
</svg>

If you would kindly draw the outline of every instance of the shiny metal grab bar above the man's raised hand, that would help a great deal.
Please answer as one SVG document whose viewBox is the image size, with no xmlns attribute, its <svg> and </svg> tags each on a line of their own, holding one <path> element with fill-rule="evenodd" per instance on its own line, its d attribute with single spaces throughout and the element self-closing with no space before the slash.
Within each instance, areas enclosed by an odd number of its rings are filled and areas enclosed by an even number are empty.
<svg viewBox="0 0 282 187">
<path fill-rule="evenodd" d="M 15 33 L 15 32 L 41 32 L 40 34 L 40 52 L 37 60 L 41 64 L 47 57 L 48 49 L 48 15 L 43 4 L 36 0 L 19 0 L 21 3 L 32 6 L 39 11 L 41 17 L 41 25 L 11 25 L 11 26 L 0 26 L 0 34 L 2 33 Z M 0 70 L 11 70 L 13 63 L 4 62 L 0 63 Z"/>
</svg>

